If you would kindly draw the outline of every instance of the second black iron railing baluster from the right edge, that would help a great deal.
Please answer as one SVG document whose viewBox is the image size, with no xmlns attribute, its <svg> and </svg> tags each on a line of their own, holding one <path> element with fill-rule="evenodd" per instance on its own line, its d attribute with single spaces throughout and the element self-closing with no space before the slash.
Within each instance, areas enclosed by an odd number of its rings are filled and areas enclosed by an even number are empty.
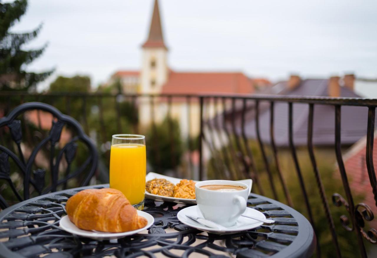
<svg viewBox="0 0 377 258">
<path fill-rule="evenodd" d="M 340 113 L 340 105 L 335 105 L 335 154 L 336 154 L 336 160 L 339 166 L 339 172 L 342 177 L 342 183 L 343 183 L 343 189 L 346 193 L 348 205 L 349 205 L 349 215 L 351 216 L 351 221 L 353 224 L 354 229 L 356 229 L 356 237 L 357 237 L 357 243 L 359 244 L 360 248 L 360 254 L 362 257 L 367 257 L 366 250 L 363 242 L 362 235 L 360 233 L 360 227 L 356 223 L 356 217 L 355 217 L 355 205 L 353 202 L 351 189 L 349 188 L 346 169 L 344 167 L 343 158 L 342 158 L 342 149 L 341 149 L 341 128 L 340 128 L 340 121 L 341 121 L 341 113 Z"/>
</svg>

